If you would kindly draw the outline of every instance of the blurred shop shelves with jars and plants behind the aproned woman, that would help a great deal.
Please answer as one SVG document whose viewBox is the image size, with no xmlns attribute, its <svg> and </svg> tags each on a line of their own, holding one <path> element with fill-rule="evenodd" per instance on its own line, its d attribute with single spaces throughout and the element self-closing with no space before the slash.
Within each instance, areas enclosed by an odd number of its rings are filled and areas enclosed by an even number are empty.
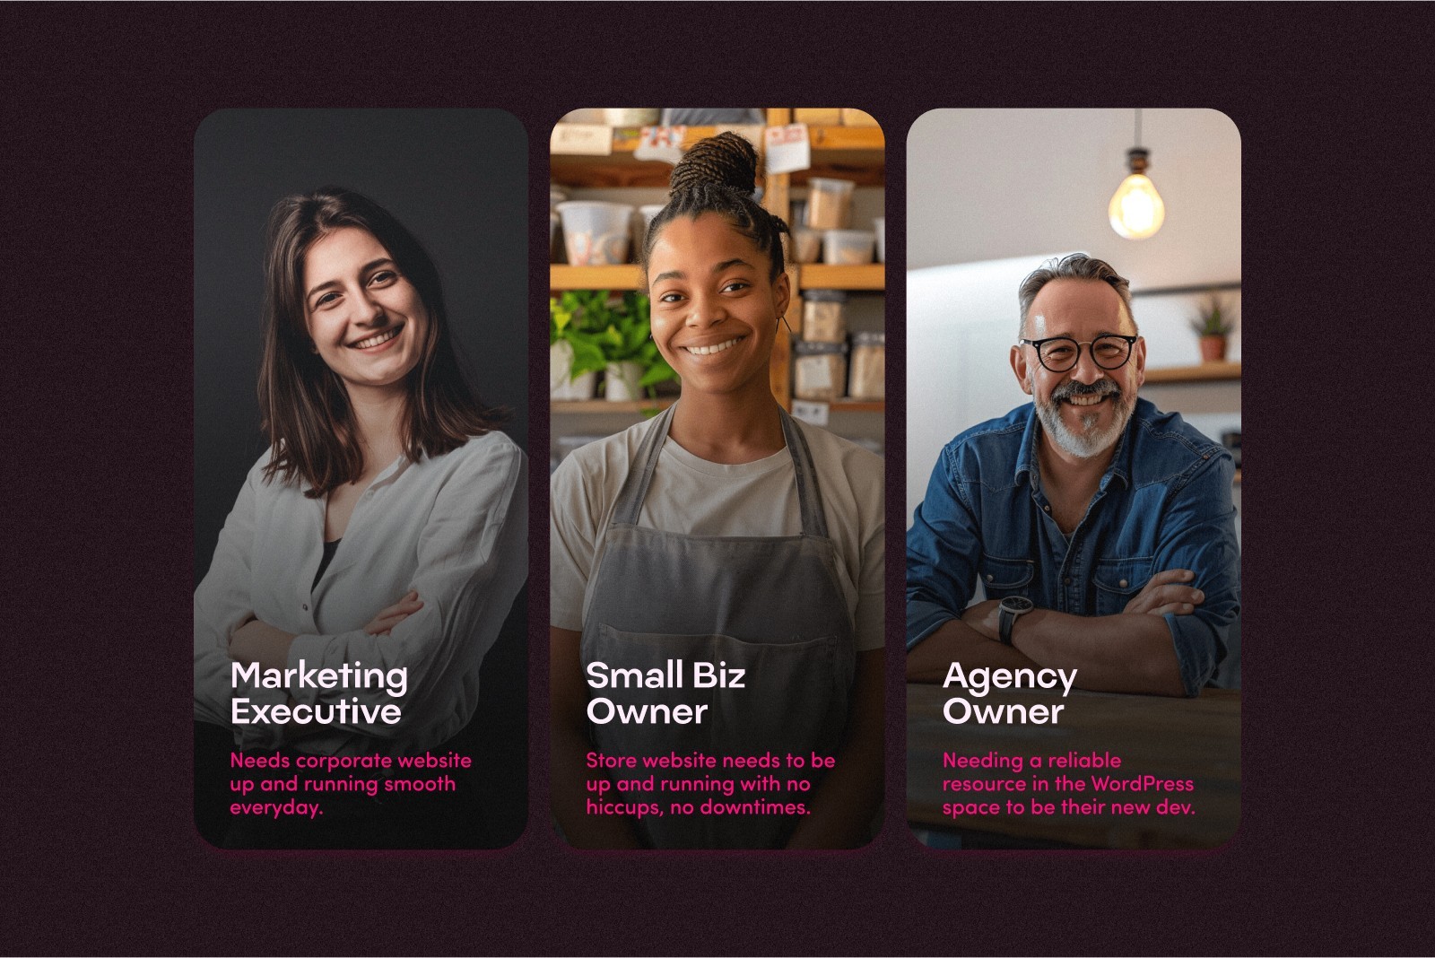
<svg viewBox="0 0 1435 958">
<path fill-rule="evenodd" d="M 758 149 L 763 207 L 792 228 L 794 297 L 772 392 L 795 416 L 884 447 L 885 139 L 854 109 L 580 109 L 550 141 L 550 469 L 672 404 L 637 267 L 682 152 L 732 129 Z"/>
</svg>

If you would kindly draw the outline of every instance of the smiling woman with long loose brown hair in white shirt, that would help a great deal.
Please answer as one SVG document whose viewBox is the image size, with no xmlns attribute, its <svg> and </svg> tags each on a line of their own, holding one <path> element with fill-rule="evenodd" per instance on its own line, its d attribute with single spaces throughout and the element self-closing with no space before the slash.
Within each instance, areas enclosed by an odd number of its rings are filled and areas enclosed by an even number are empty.
<svg viewBox="0 0 1435 958">
<path fill-rule="evenodd" d="M 525 578 L 525 462 L 464 380 L 433 261 L 366 196 L 274 207 L 260 409 L 270 450 L 194 597 L 195 717 L 241 749 L 442 746 Z M 402 687 L 241 678 L 367 668 Z M 395 704 L 393 724 L 357 708 Z M 260 706 L 294 718 L 240 723 Z"/>
</svg>

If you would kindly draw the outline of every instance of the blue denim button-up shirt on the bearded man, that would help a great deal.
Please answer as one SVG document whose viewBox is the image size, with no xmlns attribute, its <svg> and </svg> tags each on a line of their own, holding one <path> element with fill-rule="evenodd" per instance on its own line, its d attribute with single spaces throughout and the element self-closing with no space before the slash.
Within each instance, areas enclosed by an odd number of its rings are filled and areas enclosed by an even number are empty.
<svg viewBox="0 0 1435 958">
<path fill-rule="evenodd" d="M 1065 536 L 1042 492 L 1030 403 L 941 450 L 907 532 L 907 648 L 986 598 L 1023 595 L 1072 615 L 1116 615 L 1157 572 L 1191 569 L 1205 601 L 1165 617 L 1185 694 L 1225 655 L 1240 612 L 1240 548 L 1220 443 L 1137 400 L 1086 515 Z"/>
</svg>

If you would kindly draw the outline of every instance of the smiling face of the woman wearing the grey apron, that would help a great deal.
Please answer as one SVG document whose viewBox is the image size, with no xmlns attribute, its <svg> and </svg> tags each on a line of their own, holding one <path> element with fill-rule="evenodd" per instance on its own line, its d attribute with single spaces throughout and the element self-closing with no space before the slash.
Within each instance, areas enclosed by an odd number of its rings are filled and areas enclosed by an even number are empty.
<svg viewBox="0 0 1435 958">
<path fill-rule="evenodd" d="M 788 277 L 728 219 L 669 221 L 649 255 L 653 341 L 683 392 L 771 390 L 768 363 L 788 308 Z"/>
</svg>

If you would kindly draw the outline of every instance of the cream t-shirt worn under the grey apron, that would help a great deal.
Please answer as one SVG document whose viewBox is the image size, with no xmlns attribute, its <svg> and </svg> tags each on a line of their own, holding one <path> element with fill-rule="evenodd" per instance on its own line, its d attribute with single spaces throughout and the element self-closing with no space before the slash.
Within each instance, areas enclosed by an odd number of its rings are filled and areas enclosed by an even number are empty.
<svg viewBox="0 0 1435 958">
<path fill-rule="evenodd" d="M 548 526 L 551 621 L 583 630 L 593 558 L 613 519 L 637 447 L 651 423 L 573 452 L 552 475 Z M 884 466 L 839 436 L 798 420 L 812 452 L 827 532 L 857 634 L 857 650 L 884 644 Z M 653 472 L 639 525 L 682 535 L 788 536 L 802 532 L 792 455 L 735 466 L 707 462 L 669 439 Z"/>
</svg>

